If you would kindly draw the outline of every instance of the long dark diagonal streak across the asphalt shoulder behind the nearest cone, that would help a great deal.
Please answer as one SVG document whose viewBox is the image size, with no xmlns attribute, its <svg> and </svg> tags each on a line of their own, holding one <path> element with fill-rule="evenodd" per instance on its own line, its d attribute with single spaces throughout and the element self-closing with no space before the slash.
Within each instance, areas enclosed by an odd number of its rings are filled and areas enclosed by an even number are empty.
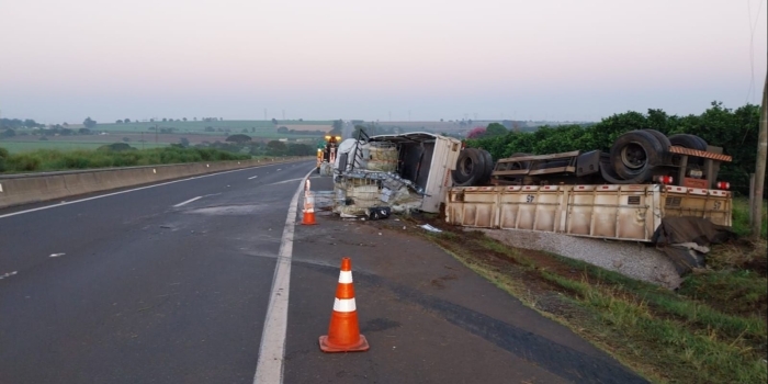
<svg viewBox="0 0 768 384">
<path fill-rule="evenodd" d="M 294 266 L 302 264 L 329 276 L 338 274 L 337 266 L 305 261 L 294 258 Z M 565 380 L 576 383 L 647 383 L 619 363 L 608 358 L 591 357 L 556 343 L 542 336 L 515 327 L 476 310 L 423 294 L 417 290 L 396 284 L 384 278 L 354 271 L 355 283 L 363 283 L 392 291 L 400 301 L 410 302 L 437 313 L 454 326 Z M 376 327 L 376 324 L 372 324 Z M 361 329 L 362 331 L 362 329 Z"/>
</svg>

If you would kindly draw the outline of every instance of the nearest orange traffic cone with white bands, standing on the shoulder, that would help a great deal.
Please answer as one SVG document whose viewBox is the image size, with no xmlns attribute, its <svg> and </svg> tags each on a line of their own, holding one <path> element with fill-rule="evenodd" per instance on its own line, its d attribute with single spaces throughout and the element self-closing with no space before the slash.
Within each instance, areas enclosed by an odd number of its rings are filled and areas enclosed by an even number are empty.
<svg viewBox="0 0 768 384">
<path fill-rule="evenodd" d="M 354 305 L 352 285 L 352 261 L 343 258 L 328 335 L 320 336 L 320 349 L 324 352 L 362 352 L 368 351 L 369 348 L 368 340 L 360 335 L 358 325 L 358 309 Z"/>
</svg>

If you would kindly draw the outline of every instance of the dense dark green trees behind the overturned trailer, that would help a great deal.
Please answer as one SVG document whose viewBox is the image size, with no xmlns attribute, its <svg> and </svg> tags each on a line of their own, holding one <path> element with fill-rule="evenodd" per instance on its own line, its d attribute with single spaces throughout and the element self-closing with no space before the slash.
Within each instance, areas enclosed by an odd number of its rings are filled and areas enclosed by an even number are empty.
<svg viewBox="0 0 768 384">
<path fill-rule="evenodd" d="M 500 159 L 515 153 L 544 155 L 572 150 L 608 151 L 619 136 L 633 129 L 656 129 L 667 136 L 691 134 L 703 138 L 709 145 L 722 147 L 724 154 L 733 157 L 732 162 L 722 163 L 720 180 L 729 181 L 735 192 L 748 194 L 749 173 L 755 172 L 759 117 L 759 105 L 746 104 L 732 110 L 724 108 L 722 102 L 714 101 L 699 115 L 677 116 L 653 109 L 645 114 L 630 111 L 613 114 L 591 125 L 544 125 L 535 132 L 481 136 L 466 139 L 466 146 L 483 148 L 494 159 Z"/>
</svg>

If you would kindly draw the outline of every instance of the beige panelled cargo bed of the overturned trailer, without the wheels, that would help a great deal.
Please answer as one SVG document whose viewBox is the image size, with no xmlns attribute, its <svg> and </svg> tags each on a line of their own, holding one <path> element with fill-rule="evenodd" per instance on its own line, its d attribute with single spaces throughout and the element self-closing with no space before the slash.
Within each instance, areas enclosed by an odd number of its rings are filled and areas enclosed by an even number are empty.
<svg viewBox="0 0 768 384">
<path fill-rule="evenodd" d="M 455 187 L 447 195 L 445 221 L 651 242 L 664 217 L 731 226 L 731 207 L 729 191 L 664 184 Z"/>
</svg>

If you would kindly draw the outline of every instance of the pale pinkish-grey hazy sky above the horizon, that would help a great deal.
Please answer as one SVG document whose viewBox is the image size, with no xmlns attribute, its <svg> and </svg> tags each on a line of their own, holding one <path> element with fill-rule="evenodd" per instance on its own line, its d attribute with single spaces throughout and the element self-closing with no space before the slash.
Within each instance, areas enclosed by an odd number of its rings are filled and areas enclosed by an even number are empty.
<svg viewBox="0 0 768 384">
<path fill-rule="evenodd" d="M 598 121 L 759 104 L 766 0 L 0 0 L 0 116 Z"/>
</svg>

